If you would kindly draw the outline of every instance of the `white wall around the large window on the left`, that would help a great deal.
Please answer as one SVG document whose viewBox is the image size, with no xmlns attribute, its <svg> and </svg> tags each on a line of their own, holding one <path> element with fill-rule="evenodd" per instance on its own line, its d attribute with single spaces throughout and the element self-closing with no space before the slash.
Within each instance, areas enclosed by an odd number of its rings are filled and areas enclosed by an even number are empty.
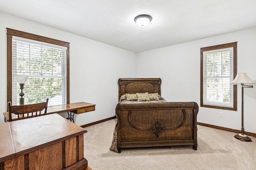
<svg viewBox="0 0 256 170">
<path fill-rule="evenodd" d="M 70 103 L 96 104 L 96 110 L 75 116 L 77 125 L 113 117 L 120 77 L 135 77 L 136 53 L 76 36 L 0 12 L 0 123 L 7 111 L 6 28 L 70 43 Z M 134 69 L 126 71 L 123 63 Z M 26 93 L 26 89 L 24 89 Z M 67 113 L 61 115 L 67 116 Z"/>
</svg>

